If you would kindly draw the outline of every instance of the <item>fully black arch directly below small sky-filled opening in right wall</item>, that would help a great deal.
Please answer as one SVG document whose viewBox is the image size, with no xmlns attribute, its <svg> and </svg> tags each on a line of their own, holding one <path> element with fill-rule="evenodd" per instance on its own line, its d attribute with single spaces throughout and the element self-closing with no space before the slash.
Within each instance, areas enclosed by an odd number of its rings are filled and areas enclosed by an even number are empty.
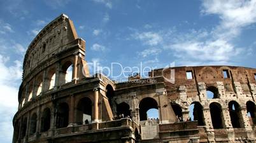
<svg viewBox="0 0 256 143">
<path fill-rule="evenodd" d="M 213 123 L 213 128 L 224 128 L 224 120 L 222 113 L 222 106 L 218 103 L 210 104 L 211 122 Z"/>
</svg>

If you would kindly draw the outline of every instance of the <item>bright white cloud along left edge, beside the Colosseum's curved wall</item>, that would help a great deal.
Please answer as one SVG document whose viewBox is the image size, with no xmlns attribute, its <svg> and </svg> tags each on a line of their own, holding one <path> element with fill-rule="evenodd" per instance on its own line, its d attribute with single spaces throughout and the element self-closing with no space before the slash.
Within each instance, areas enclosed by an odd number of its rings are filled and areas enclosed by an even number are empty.
<svg viewBox="0 0 256 143">
<path fill-rule="evenodd" d="M 12 118 L 18 107 L 18 87 L 15 83 L 20 83 L 22 63 L 15 61 L 14 65 L 10 66 L 6 62 L 6 57 L 0 54 L 0 140 L 11 142 Z"/>
</svg>

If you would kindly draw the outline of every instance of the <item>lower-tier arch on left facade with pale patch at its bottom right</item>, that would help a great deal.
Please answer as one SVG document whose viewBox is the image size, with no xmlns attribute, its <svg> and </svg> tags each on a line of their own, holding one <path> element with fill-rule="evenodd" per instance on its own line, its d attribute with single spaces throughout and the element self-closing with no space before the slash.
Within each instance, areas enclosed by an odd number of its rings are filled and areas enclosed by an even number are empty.
<svg viewBox="0 0 256 143">
<path fill-rule="evenodd" d="M 83 97 L 76 107 L 76 123 L 92 123 L 92 101 L 88 97 Z"/>
</svg>

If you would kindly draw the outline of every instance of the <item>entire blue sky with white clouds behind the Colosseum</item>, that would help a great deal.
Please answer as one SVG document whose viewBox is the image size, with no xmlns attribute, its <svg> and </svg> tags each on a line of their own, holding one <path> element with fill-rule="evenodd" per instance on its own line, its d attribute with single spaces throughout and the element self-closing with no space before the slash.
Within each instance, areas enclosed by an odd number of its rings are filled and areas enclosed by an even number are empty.
<svg viewBox="0 0 256 143">
<path fill-rule="evenodd" d="M 101 66 L 255 68 L 256 1 L 0 1 L 0 142 L 11 142 L 22 61 L 31 40 L 61 13 Z"/>
</svg>

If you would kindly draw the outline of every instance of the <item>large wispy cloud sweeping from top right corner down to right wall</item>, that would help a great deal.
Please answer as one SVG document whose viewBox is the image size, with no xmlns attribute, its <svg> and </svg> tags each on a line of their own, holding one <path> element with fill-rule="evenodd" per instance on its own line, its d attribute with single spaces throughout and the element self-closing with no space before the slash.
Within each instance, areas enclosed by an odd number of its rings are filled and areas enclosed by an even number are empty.
<svg viewBox="0 0 256 143">
<path fill-rule="evenodd" d="M 136 31 L 132 37 L 140 40 L 148 49 L 141 51 L 141 56 L 148 56 L 152 47 L 160 47 L 165 53 L 184 63 L 230 64 L 240 54 L 246 54 L 245 47 L 234 44 L 243 28 L 256 23 L 256 0 L 253 1 L 203 1 L 203 16 L 217 15 L 220 23 L 210 30 L 199 28 L 189 32 L 177 32 L 160 28 Z M 252 50 L 251 50 L 252 51 Z M 250 53 L 250 50 L 247 51 Z M 182 63 L 181 63 L 182 64 Z"/>
</svg>

